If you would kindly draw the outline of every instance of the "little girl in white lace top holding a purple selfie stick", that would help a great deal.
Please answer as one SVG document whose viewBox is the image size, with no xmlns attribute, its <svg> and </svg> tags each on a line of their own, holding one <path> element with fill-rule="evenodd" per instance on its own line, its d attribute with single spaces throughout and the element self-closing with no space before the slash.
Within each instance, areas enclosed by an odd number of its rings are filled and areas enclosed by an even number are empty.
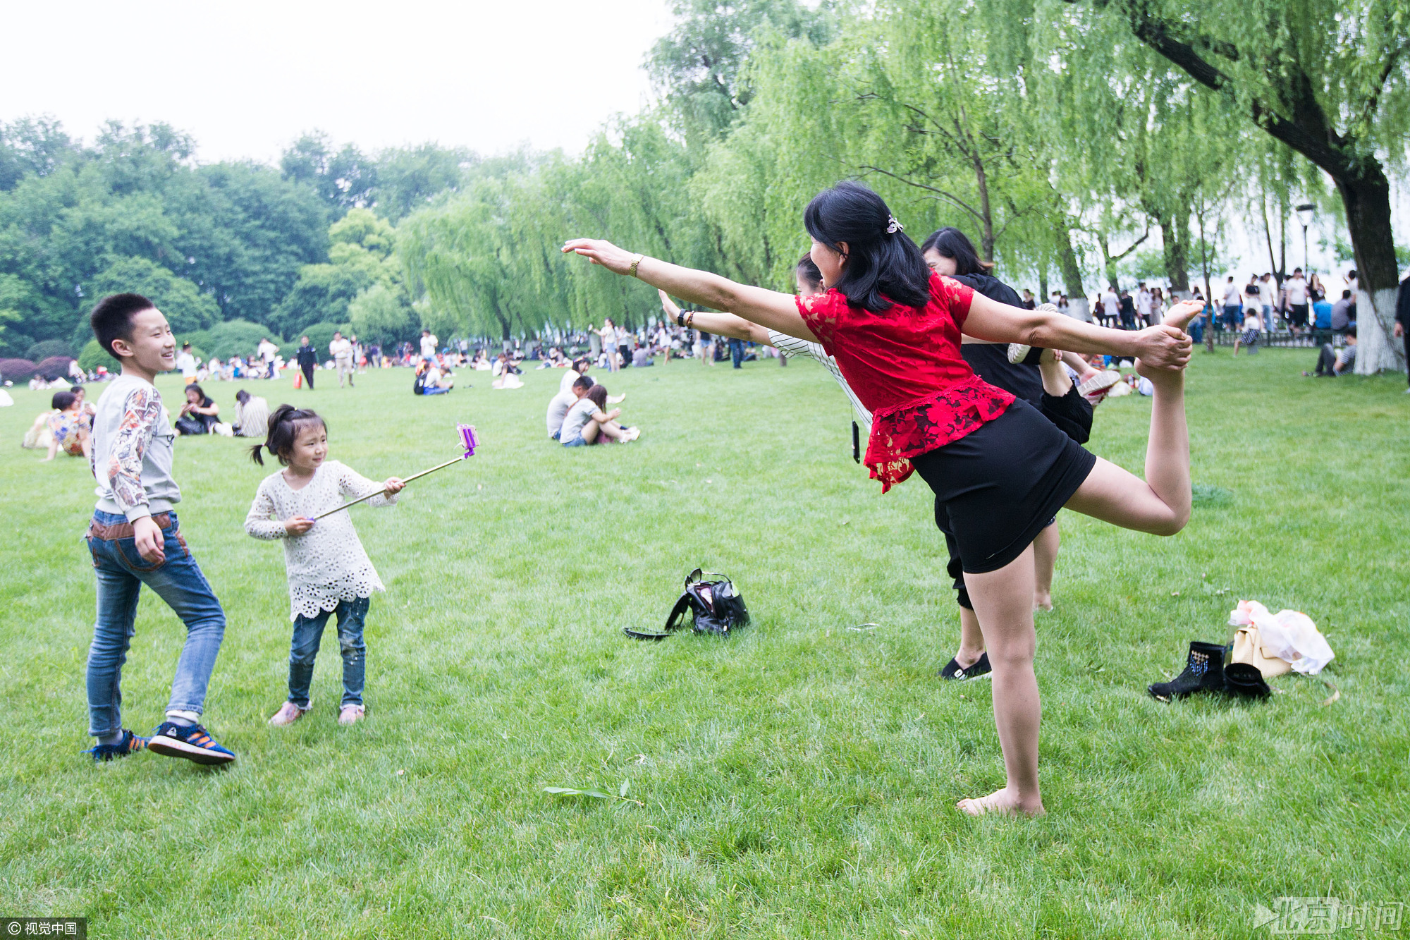
<svg viewBox="0 0 1410 940">
<path fill-rule="evenodd" d="M 264 466 L 261 445 L 250 450 Z M 279 405 L 269 415 L 269 436 L 264 447 L 279 459 L 283 470 L 264 478 L 245 517 L 245 532 L 257 539 L 285 539 L 283 563 L 289 572 L 289 600 L 293 642 L 289 645 L 289 700 L 269 724 L 293 724 L 313 707 L 309 683 L 319 639 L 329 614 L 337 613 L 338 645 L 343 648 L 343 704 L 338 724 L 354 724 L 367 709 L 362 679 L 367 645 L 362 622 L 372 591 L 385 590 L 352 529 L 348 512 L 334 512 L 314 522 L 310 517 L 337 507 L 343 497 L 384 495 L 367 505 L 393 505 L 405 486 L 398 477 L 374 483 L 337 460 L 326 462 L 329 429 L 314 412 Z"/>
</svg>

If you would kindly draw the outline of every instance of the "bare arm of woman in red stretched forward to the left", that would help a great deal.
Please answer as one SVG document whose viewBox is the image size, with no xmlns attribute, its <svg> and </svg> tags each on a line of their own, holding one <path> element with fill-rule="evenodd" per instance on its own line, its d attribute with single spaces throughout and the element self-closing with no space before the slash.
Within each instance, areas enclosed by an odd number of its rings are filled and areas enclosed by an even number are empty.
<svg viewBox="0 0 1410 940">
<path fill-rule="evenodd" d="M 592 264 L 601 264 L 613 274 L 630 274 L 632 263 L 637 258 L 636 254 L 601 239 L 572 239 L 563 246 L 563 251 L 581 254 Z M 636 277 L 691 303 L 716 311 L 730 311 L 752 323 L 812 343 L 818 342 L 808 325 L 802 322 L 792 294 L 735 284 L 729 278 L 709 271 L 682 268 L 678 264 L 647 257 L 642 257 L 637 263 Z M 699 323 L 699 327 L 706 333 L 715 332 L 705 323 Z"/>
</svg>

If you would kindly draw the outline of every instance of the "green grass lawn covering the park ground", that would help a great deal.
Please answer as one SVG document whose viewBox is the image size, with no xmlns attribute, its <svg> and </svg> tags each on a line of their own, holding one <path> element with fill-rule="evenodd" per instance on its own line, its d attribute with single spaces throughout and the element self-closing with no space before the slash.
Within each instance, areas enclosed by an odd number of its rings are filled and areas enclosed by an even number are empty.
<svg viewBox="0 0 1410 940">
<path fill-rule="evenodd" d="M 80 754 L 93 481 L 18 447 L 48 394 L 13 390 L 0 916 L 134 939 L 1246 937 L 1279 896 L 1410 902 L 1410 397 L 1403 377 L 1303 378 L 1313 360 L 1196 356 L 1206 495 L 1179 536 L 1062 515 L 1032 821 L 953 809 L 1004 775 L 990 683 L 935 677 L 959 617 L 931 494 L 916 477 L 881 495 L 812 363 L 599 375 L 643 436 L 575 450 L 544 436 L 557 371 L 516 391 L 467 373 L 440 398 L 406 370 L 245 382 L 316 406 L 330 456 L 371 477 L 454 456 L 457 421 L 482 447 L 393 510 L 352 510 L 388 586 L 365 724 L 334 724 L 326 635 L 314 713 L 276 730 L 283 556 L 241 528 L 269 470 L 235 440 L 178 443 L 182 528 L 228 615 L 206 703 L 238 754 L 223 771 Z M 238 387 L 207 388 L 231 408 Z M 1103 404 L 1091 449 L 1139 471 L 1149 404 Z M 735 579 L 750 628 L 622 635 L 658 625 L 698 565 Z M 1311 615 L 1340 701 L 1301 676 L 1263 704 L 1146 696 L 1190 639 L 1228 638 L 1239 598 Z M 124 675 L 140 733 L 183 632 L 144 594 Z"/>
</svg>

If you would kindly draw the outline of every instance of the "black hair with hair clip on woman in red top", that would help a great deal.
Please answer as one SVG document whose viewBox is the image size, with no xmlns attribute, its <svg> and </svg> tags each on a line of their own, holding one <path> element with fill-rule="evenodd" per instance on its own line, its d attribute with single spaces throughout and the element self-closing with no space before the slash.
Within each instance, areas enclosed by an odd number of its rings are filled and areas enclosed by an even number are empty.
<svg viewBox="0 0 1410 940">
<path fill-rule="evenodd" d="M 833 251 L 847 244 L 836 288 L 852 306 L 873 313 L 895 303 L 924 308 L 931 302 L 931 270 L 915 243 L 897 227 L 885 200 L 852 181 L 823 189 L 802 213 L 808 234 Z"/>
</svg>

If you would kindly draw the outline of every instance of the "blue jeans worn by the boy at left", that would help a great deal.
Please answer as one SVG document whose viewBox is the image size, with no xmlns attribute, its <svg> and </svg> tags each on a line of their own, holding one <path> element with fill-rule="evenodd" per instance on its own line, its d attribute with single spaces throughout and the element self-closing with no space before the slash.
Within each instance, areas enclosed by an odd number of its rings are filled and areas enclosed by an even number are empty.
<svg viewBox="0 0 1410 940">
<path fill-rule="evenodd" d="M 89 646 L 89 734 L 104 737 L 123 730 L 123 663 L 137 632 L 137 596 L 147 584 L 186 624 L 186 645 L 176 661 L 176 679 L 166 710 L 200 714 L 216 653 L 226 635 L 226 611 L 216 600 L 200 566 L 178 532 L 176 514 L 162 526 L 166 560 L 157 565 L 137 553 L 137 539 L 97 538 L 100 526 L 125 526 L 127 517 L 96 511 L 87 543 L 97 574 L 97 620 Z"/>
</svg>

